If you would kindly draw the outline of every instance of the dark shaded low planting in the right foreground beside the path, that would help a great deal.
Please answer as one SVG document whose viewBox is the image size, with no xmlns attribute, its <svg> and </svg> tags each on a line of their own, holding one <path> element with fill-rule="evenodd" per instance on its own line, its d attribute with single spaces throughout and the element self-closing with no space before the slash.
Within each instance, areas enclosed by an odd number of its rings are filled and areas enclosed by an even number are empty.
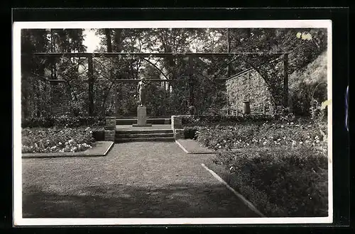
<svg viewBox="0 0 355 234">
<path fill-rule="evenodd" d="M 269 217 L 327 216 L 327 155 L 310 147 L 217 152 L 229 184 Z"/>
</svg>

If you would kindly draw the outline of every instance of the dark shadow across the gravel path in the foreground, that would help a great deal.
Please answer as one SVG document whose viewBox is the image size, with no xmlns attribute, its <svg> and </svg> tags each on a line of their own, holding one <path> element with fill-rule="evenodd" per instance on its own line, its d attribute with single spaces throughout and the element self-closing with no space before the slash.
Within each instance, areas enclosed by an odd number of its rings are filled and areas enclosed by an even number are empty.
<svg viewBox="0 0 355 234">
<path fill-rule="evenodd" d="M 23 188 L 23 218 L 258 217 L 224 185 L 169 184 L 165 188 L 106 184 L 45 192 Z"/>
</svg>

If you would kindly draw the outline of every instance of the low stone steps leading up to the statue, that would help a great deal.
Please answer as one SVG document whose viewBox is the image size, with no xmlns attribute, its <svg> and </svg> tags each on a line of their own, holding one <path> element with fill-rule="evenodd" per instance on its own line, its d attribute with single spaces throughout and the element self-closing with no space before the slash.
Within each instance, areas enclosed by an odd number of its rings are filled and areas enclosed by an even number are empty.
<svg viewBox="0 0 355 234">
<path fill-rule="evenodd" d="M 172 129 L 137 129 L 137 130 L 116 130 L 115 142 L 144 142 L 144 141 L 175 141 Z"/>
</svg>

